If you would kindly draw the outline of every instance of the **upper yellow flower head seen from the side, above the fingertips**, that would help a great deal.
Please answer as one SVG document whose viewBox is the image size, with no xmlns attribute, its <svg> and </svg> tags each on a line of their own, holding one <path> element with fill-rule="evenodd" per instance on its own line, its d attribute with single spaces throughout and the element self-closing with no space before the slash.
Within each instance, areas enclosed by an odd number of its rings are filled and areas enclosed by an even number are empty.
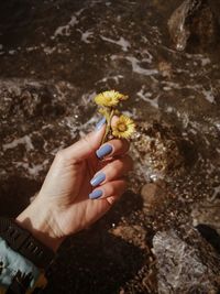
<svg viewBox="0 0 220 294">
<path fill-rule="evenodd" d="M 106 106 L 106 107 L 113 107 L 119 104 L 120 100 L 128 99 L 128 96 L 120 94 L 116 90 L 102 91 L 95 97 L 95 101 L 97 105 Z"/>
</svg>

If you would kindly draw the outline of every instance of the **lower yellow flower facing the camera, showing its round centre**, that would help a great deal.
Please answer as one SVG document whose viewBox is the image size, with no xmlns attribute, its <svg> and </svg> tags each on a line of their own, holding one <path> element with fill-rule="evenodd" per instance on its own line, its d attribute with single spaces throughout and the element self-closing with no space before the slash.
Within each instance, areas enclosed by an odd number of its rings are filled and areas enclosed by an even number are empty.
<svg viewBox="0 0 220 294">
<path fill-rule="evenodd" d="M 116 138 L 129 139 L 135 131 L 135 123 L 128 116 L 120 116 L 116 124 L 112 126 L 112 134 Z"/>
</svg>

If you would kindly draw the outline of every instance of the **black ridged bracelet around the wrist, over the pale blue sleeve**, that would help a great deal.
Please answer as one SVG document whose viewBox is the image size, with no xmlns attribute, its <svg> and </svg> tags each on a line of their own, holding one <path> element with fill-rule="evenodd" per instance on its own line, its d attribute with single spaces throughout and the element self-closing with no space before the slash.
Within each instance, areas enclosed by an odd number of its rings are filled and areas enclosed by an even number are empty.
<svg viewBox="0 0 220 294">
<path fill-rule="evenodd" d="M 45 269 L 54 259 L 54 251 L 20 227 L 14 219 L 0 217 L 0 237 L 11 249 L 21 253 L 37 268 Z"/>
</svg>

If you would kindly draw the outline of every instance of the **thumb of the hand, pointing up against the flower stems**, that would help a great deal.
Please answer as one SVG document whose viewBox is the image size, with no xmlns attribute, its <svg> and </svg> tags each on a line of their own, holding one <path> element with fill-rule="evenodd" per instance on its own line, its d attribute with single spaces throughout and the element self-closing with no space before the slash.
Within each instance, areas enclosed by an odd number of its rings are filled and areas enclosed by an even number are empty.
<svg viewBox="0 0 220 294">
<path fill-rule="evenodd" d="M 100 146 L 101 140 L 106 131 L 106 119 L 103 118 L 98 122 L 95 131 L 88 133 L 81 138 L 75 144 L 63 150 L 65 152 L 65 157 L 68 160 L 81 161 L 87 159 L 89 155 L 96 152 Z"/>
</svg>

